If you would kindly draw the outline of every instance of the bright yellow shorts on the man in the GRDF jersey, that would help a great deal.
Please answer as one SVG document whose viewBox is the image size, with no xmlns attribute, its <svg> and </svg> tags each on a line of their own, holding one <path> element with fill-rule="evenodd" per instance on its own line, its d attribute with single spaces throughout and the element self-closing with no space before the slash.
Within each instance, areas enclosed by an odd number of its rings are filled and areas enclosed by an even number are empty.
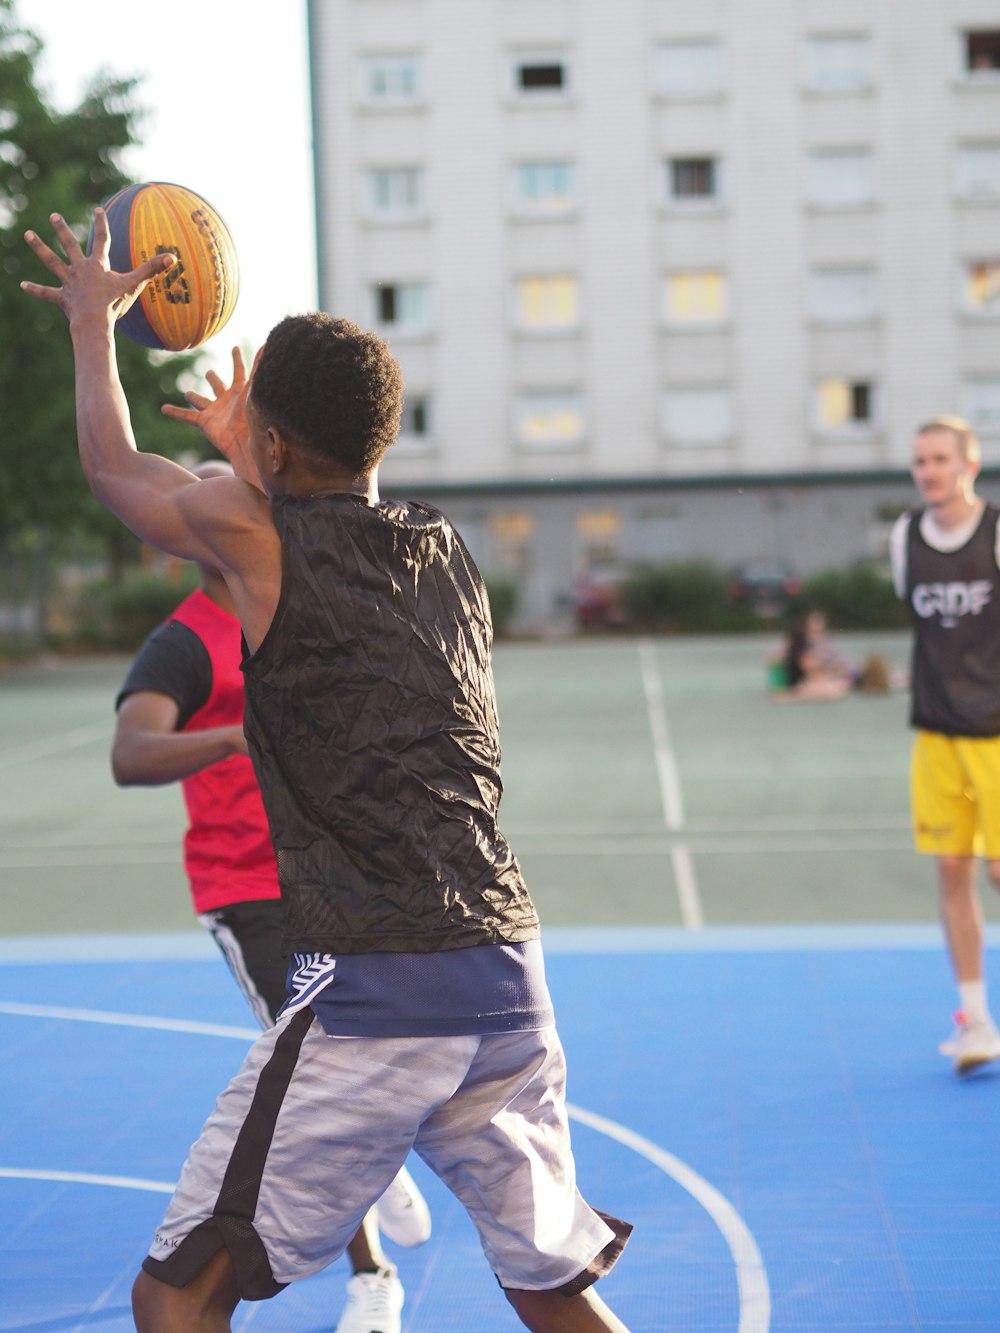
<svg viewBox="0 0 1000 1333">
<path fill-rule="evenodd" d="M 1000 737 L 917 732 L 909 797 L 917 852 L 1000 860 Z"/>
</svg>

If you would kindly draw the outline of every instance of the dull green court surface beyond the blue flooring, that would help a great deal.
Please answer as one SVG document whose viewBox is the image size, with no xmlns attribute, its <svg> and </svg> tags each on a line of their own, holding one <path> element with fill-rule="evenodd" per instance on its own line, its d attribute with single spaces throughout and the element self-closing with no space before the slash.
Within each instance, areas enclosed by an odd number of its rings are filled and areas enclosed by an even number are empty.
<svg viewBox="0 0 1000 1333">
<path fill-rule="evenodd" d="M 905 635 L 844 635 L 884 653 Z M 929 922 L 905 692 L 777 704 L 773 640 L 497 645 L 501 826 L 549 926 Z M 124 659 L 0 674 L 0 934 L 191 925 L 176 786 L 119 790 Z M 988 912 L 996 914 L 991 902 Z"/>
</svg>

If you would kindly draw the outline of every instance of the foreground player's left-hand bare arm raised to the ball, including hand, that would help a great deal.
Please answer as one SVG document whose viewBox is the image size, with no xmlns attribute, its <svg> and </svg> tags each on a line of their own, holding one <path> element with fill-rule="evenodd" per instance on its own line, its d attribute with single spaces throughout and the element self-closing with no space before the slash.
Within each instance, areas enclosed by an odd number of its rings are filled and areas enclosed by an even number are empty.
<svg viewBox="0 0 1000 1333">
<path fill-rule="evenodd" d="M 157 255 L 131 273 L 108 267 L 108 223 L 95 212 L 93 251 L 80 243 L 57 213 L 52 227 L 63 259 L 36 232 L 25 240 L 59 287 L 21 283 L 39 300 L 59 305 L 69 321 L 76 365 L 76 429 L 80 463 L 95 497 L 143 541 L 191 560 L 239 568 L 243 547 L 269 524 L 269 505 L 244 481 L 219 480 L 212 496 L 192 473 L 169 459 L 140 453 L 132 433 L 115 355 L 115 321 L 145 284 L 173 263 Z M 245 376 L 244 376 L 245 381 Z M 240 387 L 245 397 L 245 388 Z"/>
</svg>

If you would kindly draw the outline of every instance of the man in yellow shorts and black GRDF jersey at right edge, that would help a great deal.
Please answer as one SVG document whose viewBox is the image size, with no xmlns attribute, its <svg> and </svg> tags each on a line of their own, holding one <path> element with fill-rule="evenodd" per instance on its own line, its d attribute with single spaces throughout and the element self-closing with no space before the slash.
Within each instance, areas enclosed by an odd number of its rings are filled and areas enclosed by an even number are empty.
<svg viewBox="0 0 1000 1333">
<path fill-rule="evenodd" d="M 913 621 L 913 834 L 917 850 L 937 858 L 959 986 L 957 1028 L 941 1050 L 959 1073 L 1000 1058 L 976 884 L 983 857 L 1000 888 L 1000 511 L 976 495 L 979 469 L 965 421 L 921 425 L 912 472 L 924 508 L 892 533 L 893 581 Z"/>
</svg>

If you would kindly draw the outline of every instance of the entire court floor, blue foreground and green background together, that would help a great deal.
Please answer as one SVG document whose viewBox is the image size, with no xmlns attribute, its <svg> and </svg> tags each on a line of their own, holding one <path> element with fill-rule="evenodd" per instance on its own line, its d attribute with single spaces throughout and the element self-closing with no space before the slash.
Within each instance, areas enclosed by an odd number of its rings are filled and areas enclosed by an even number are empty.
<svg viewBox="0 0 1000 1333">
<path fill-rule="evenodd" d="M 501 824 L 544 921 L 580 1184 L 636 1225 L 604 1296 L 633 1333 L 1000 1329 L 1000 1068 L 959 1080 L 936 1050 L 953 988 L 909 848 L 905 696 L 775 704 L 769 647 L 497 651 Z M 904 637 L 843 647 L 905 665 Z M 0 677 L 5 1330 L 131 1328 L 253 1033 L 191 924 L 179 793 L 108 776 L 124 665 Z M 389 1246 L 407 1333 L 517 1328 L 411 1169 L 433 1234 Z M 329 1330 L 347 1276 L 235 1328 Z"/>
</svg>

